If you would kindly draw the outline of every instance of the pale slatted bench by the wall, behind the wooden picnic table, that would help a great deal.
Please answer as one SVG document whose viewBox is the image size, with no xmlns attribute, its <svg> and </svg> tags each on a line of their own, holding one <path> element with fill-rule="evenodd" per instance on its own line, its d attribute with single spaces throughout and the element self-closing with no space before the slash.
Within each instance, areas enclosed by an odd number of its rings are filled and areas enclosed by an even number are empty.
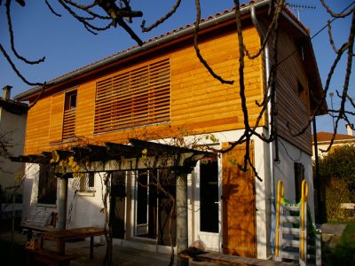
<svg viewBox="0 0 355 266">
<path fill-rule="evenodd" d="M 28 215 L 28 218 L 20 223 L 22 229 L 28 231 L 28 240 L 32 239 L 33 231 L 55 231 L 57 213 L 37 209 Z"/>
</svg>

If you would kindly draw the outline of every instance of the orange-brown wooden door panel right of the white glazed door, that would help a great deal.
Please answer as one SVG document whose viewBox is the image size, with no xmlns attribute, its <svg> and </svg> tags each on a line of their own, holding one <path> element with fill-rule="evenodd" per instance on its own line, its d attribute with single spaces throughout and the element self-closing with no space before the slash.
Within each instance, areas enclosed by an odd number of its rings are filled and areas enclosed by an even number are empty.
<svg viewBox="0 0 355 266">
<path fill-rule="evenodd" d="M 249 153 L 254 163 L 252 144 Z M 223 252 L 256 257 L 255 174 L 239 168 L 244 155 L 245 145 L 238 145 L 222 157 Z"/>
</svg>

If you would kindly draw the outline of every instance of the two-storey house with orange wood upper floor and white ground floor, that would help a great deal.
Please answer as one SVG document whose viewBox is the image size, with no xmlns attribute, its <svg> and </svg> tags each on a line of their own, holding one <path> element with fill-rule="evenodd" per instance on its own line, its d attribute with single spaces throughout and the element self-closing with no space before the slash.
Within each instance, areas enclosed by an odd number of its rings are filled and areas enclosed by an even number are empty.
<svg viewBox="0 0 355 266">
<path fill-rule="evenodd" d="M 270 24 L 269 2 L 254 1 L 241 8 L 243 36 L 250 53 L 258 51 L 261 35 Z M 200 50 L 218 74 L 238 81 L 234 23 L 233 11 L 202 20 Z M 309 31 L 288 9 L 282 12 L 279 38 L 280 58 L 288 59 L 280 64 L 277 76 L 278 141 L 269 145 L 253 137 L 250 154 L 260 179 L 252 171 L 244 173 L 238 168 L 245 153 L 243 145 L 220 156 L 193 161 L 196 164 L 191 165 L 185 188 L 187 214 L 177 211 L 176 215 L 177 220 L 180 215 L 187 215 L 184 221 L 188 231 L 183 239 L 188 237 L 184 240 L 188 243 L 201 239 L 209 250 L 266 258 L 272 252 L 272 203 L 277 180 L 285 184 L 285 197 L 289 200 L 297 199 L 303 178 L 309 191 L 313 191 L 311 130 L 293 137 L 289 127 L 294 132 L 302 129 L 315 113 L 322 96 L 319 72 Z M 262 100 L 267 91 L 267 66 L 271 61 L 263 54 L 245 62 L 251 124 L 260 111 L 256 100 Z M 28 162 L 28 212 L 36 207 L 60 212 L 60 199 L 64 197 L 67 227 L 102 225 L 100 210 L 106 173 L 99 169 L 106 169 L 105 161 L 98 168 L 89 163 L 90 170 L 83 173 L 82 179 L 69 178 L 67 194 L 58 192 L 67 185 L 61 175 L 64 172 L 57 175 L 61 177 L 57 183 L 51 175 L 50 161 L 58 163 L 59 156 L 69 161 L 66 154 L 81 154 L 92 161 L 109 158 L 116 162 L 109 168 L 114 243 L 169 250 L 169 238 L 162 226 L 167 223 L 171 204 L 149 185 L 154 175 L 164 171 L 158 169 L 156 173 L 154 167 L 148 171 L 122 168 L 127 162 L 127 150 L 130 159 L 150 152 L 144 145 L 134 151 L 137 141 L 126 144 L 131 138 L 167 144 L 184 137 L 185 141 L 197 141 L 195 147 L 225 148 L 241 137 L 244 128 L 238 82 L 221 84 L 201 65 L 193 49 L 193 26 L 189 25 L 59 76 L 48 84 L 45 90 L 36 87 L 16 96 L 29 103 L 39 98 L 28 112 L 25 154 L 18 158 Z M 267 121 L 267 117 L 262 117 L 257 133 L 269 134 Z M 158 145 L 156 150 L 161 147 Z M 179 155 L 193 153 L 172 150 Z M 172 179 L 165 189 L 173 194 L 175 185 Z M 309 204 L 313 210 L 312 193 Z M 173 226 L 175 229 L 177 225 Z M 178 241 L 181 236 L 177 233 L 176 238 Z"/>
</svg>

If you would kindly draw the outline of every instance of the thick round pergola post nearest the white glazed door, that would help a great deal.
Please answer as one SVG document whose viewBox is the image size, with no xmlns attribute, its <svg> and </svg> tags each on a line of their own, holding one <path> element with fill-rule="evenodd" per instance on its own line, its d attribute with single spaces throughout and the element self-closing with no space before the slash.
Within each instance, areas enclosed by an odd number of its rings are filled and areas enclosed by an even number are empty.
<svg viewBox="0 0 355 266">
<path fill-rule="evenodd" d="M 188 246 L 187 174 L 177 174 L 177 254 Z M 177 266 L 188 265 L 188 260 L 177 256 Z"/>
</svg>

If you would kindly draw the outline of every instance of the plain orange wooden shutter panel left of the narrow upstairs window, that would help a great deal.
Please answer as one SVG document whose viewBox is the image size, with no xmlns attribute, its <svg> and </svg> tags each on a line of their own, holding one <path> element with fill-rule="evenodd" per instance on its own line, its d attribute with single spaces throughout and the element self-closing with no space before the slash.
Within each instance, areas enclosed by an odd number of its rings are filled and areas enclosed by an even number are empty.
<svg viewBox="0 0 355 266">
<path fill-rule="evenodd" d="M 50 143 L 62 140 L 64 93 L 51 97 Z"/>
</svg>

